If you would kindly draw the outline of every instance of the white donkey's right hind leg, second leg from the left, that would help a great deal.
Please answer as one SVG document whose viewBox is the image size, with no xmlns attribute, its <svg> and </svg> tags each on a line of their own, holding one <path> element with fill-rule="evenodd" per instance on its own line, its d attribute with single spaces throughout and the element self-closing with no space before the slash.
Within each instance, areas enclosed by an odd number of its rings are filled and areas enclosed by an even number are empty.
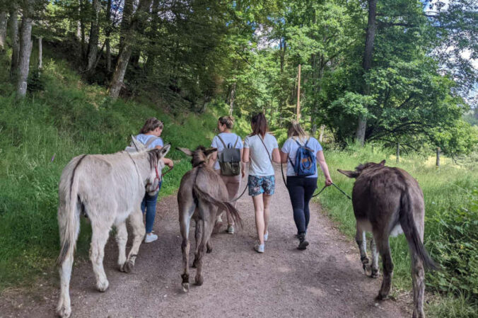
<svg viewBox="0 0 478 318">
<path fill-rule="evenodd" d="M 93 235 L 91 237 L 90 260 L 93 264 L 93 272 L 96 278 L 96 288 L 104 292 L 108 288 L 108 280 L 103 268 L 103 257 L 105 256 L 105 244 L 110 235 L 111 225 L 93 225 Z"/>
</svg>

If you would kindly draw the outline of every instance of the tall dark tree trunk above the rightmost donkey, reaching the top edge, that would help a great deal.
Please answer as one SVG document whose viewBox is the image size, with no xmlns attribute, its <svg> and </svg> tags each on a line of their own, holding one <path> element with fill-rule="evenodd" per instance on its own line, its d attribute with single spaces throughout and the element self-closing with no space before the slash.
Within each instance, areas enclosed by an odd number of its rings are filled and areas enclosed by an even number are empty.
<svg viewBox="0 0 478 318">
<path fill-rule="evenodd" d="M 363 51 L 363 76 L 367 74 L 368 70 L 372 67 L 372 55 L 373 55 L 373 45 L 375 40 L 375 30 L 377 25 L 375 24 L 377 10 L 377 0 L 368 0 L 368 24 L 367 24 L 367 34 L 365 38 L 365 50 Z M 362 93 L 363 95 L 368 95 L 369 88 L 366 84 L 365 78 L 362 79 Z M 357 142 L 363 145 L 365 142 L 365 130 L 367 127 L 367 118 L 364 115 L 360 115 L 358 118 L 358 125 L 355 134 Z"/>
</svg>

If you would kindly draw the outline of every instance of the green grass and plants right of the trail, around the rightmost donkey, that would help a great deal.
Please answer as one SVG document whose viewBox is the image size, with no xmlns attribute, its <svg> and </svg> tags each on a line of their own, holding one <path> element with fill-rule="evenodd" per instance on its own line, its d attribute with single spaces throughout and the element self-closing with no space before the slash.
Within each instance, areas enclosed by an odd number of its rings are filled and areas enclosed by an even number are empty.
<svg viewBox="0 0 478 318">
<path fill-rule="evenodd" d="M 387 166 L 400 166 L 408 171 L 424 191 L 425 246 L 433 259 L 444 267 L 442 272 L 426 275 L 427 290 L 436 293 L 427 310 L 432 317 L 477 317 L 478 285 L 478 166 L 457 166 L 442 158 L 437 170 L 434 157 L 412 154 L 395 164 L 395 156 L 382 147 L 368 144 L 363 149 L 345 151 L 325 149 L 332 180 L 346 193 L 351 193 L 354 180 L 337 169 L 354 170 L 360 163 L 387 159 Z M 319 180 L 320 187 L 323 177 Z M 334 188 L 320 195 L 325 211 L 349 237 L 355 236 L 355 217 L 351 202 Z M 395 290 L 412 290 L 410 256 L 403 235 L 390 238 L 395 263 Z M 357 263 L 359 266 L 359 263 Z"/>
</svg>

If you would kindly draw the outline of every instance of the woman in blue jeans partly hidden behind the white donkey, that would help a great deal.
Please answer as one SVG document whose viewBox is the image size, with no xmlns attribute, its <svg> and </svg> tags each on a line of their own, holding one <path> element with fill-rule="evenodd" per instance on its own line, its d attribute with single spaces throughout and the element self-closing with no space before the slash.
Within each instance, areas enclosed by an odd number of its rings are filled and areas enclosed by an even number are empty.
<svg viewBox="0 0 478 318">
<path fill-rule="evenodd" d="M 141 128 L 139 135 L 136 136 L 136 140 L 146 145 L 148 149 L 161 149 L 164 146 L 163 139 L 160 137 L 161 132 L 163 132 L 163 123 L 157 118 L 151 117 L 146 120 L 144 126 Z M 165 165 L 173 168 L 173 160 L 168 158 L 163 158 Z M 158 193 L 161 190 L 161 184 L 163 181 L 158 184 L 158 192 L 156 195 L 148 195 L 146 193 L 141 202 L 141 211 L 144 213 L 146 211 L 146 236 L 144 237 L 145 243 L 151 243 L 158 239 L 158 235 L 153 234 L 153 223 L 154 217 L 156 217 L 156 202 L 158 201 Z"/>
</svg>

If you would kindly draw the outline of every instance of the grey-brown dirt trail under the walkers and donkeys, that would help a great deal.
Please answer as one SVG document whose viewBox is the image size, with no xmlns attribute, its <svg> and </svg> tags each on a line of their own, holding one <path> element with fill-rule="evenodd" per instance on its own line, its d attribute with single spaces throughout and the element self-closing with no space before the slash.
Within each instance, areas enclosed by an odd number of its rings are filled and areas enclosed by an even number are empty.
<svg viewBox="0 0 478 318">
<path fill-rule="evenodd" d="M 95 290 L 90 263 L 75 263 L 72 317 L 411 316 L 393 300 L 375 302 L 381 278 L 363 275 L 356 245 L 337 231 L 316 203 L 311 205 L 310 246 L 306 251 L 296 249 L 291 203 L 279 174 L 264 254 L 252 249 L 254 210 L 246 194 L 238 201 L 244 228 L 233 235 L 216 234 L 214 251 L 204 256 L 204 285 L 192 285 L 190 293 L 182 293 L 177 202 L 171 195 L 158 203 L 154 230 L 159 239 L 141 245 L 133 273 L 117 271 L 117 249 L 110 238 L 105 251 L 110 281 L 106 293 Z M 194 274 L 192 268 L 192 280 Z M 21 297 L 6 293 L 0 300 L 0 317 L 53 317 L 56 288 L 32 293 Z"/>
</svg>

